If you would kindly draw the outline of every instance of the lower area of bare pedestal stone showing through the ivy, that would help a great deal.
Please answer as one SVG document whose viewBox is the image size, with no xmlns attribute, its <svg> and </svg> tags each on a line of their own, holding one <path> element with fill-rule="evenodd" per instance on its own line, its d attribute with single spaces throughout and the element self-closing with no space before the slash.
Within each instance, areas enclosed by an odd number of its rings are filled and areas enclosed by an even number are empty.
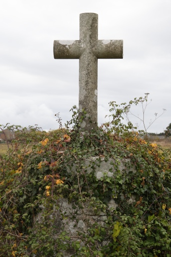
<svg viewBox="0 0 171 257">
<path fill-rule="evenodd" d="M 113 203 L 112 206 L 114 206 Z M 117 204 L 115 206 L 117 206 Z M 45 208 L 42 208 L 42 205 L 41 209 L 42 211 L 40 211 L 34 219 L 35 229 L 37 225 L 41 225 L 46 222 L 43 215 Z M 80 233 L 86 234 L 87 230 L 91 228 L 92 224 L 95 222 L 105 227 L 107 216 L 104 212 L 97 214 L 93 207 L 90 208 L 89 202 L 84 202 L 84 208 L 79 208 L 78 206 L 76 207 L 74 203 L 68 202 L 68 199 L 61 197 L 56 201 L 56 204 L 54 204 L 53 211 L 51 212 L 48 221 L 51 222 L 51 225 L 54 227 L 53 236 L 55 238 L 57 238 L 62 231 L 65 231 L 70 237 L 71 242 L 79 240 L 83 245 L 83 242 L 80 239 Z M 73 249 L 68 251 L 61 250 L 61 252 L 63 252 L 65 257 L 70 257 L 74 254 Z"/>
</svg>

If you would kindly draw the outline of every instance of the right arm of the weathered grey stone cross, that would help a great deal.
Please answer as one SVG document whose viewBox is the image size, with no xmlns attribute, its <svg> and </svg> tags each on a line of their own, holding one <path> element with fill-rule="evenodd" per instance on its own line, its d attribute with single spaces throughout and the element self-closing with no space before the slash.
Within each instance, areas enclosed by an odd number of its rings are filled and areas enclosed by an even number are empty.
<svg viewBox="0 0 171 257">
<path fill-rule="evenodd" d="M 92 51 L 98 59 L 123 59 L 123 40 L 98 40 Z"/>
</svg>

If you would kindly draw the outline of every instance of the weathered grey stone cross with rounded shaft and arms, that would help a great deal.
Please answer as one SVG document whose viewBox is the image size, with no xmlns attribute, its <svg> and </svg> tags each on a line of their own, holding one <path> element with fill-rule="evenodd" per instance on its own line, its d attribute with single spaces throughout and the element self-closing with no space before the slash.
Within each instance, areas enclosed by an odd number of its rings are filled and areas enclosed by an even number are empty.
<svg viewBox="0 0 171 257">
<path fill-rule="evenodd" d="M 122 40 L 98 40 L 98 15 L 80 14 L 80 40 L 55 40 L 55 59 L 79 59 L 79 110 L 87 112 L 82 130 L 97 127 L 97 61 L 122 59 Z M 91 122 L 90 122 L 91 119 Z"/>
</svg>

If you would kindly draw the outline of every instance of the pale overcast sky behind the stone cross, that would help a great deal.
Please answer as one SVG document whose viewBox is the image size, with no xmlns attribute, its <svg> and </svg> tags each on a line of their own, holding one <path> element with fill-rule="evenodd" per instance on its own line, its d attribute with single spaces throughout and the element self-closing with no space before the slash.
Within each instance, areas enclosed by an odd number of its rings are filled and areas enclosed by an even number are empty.
<svg viewBox="0 0 171 257">
<path fill-rule="evenodd" d="M 160 133 L 171 122 L 170 0 L 2 0 L 0 124 L 57 129 L 78 106 L 79 60 L 55 60 L 54 40 L 79 40 L 79 15 L 98 14 L 98 39 L 123 40 L 123 59 L 98 60 L 98 122 L 109 101 L 149 93 L 145 124 Z M 142 108 L 132 108 L 142 117 Z M 131 117 L 130 117 L 131 120 Z M 138 119 L 132 119 L 137 123 Z M 143 129 L 143 126 L 139 126 Z"/>
</svg>

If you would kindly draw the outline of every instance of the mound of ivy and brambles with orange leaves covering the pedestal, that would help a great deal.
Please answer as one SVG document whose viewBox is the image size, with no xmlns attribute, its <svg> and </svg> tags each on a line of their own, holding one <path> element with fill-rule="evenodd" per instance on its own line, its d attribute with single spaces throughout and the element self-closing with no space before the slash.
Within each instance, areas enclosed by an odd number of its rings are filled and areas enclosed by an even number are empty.
<svg viewBox="0 0 171 257">
<path fill-rule="evenodd" d="M 170 150 L 145 142 L 130 122 L 122 123 L 131 104 L 142 101 L 111 102 L 111 121 L 91 132 L 80 131 L 86 113 L 75 107 L 65 130 L 60 118 L 55 132 L 13 126 L 16 140 L 0 155 L 0 256 L 171 256 Z M 115 162 L 112 177 L 97 179 L 93 165 L 91 173 L 84 168 L 92 156 L 99 164 L 102 158 L 130 163 L 121 172 Z M 51 214 L 54 206 L 60 211 L 60 198 L 81 209 L 88 202 L 107 219 L 74 240 L 65 230 L 56 236 Z M 111 199 L 116 209 L 107 208 Z M 65 218 L 61 212 L 59 219 Z"/>
</svg>

